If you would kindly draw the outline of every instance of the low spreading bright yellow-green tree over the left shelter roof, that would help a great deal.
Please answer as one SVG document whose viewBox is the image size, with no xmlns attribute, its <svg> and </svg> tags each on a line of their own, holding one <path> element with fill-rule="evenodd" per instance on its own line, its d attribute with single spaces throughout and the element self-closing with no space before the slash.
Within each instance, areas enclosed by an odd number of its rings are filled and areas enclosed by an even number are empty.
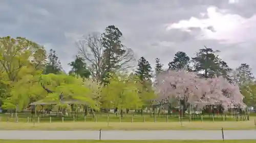
<svg viewBox="0 0 256 143">
<path fill-rule="evenodd" d="M 48 74 L 41 75 L 40 81 L 41 86 L 48 92 L 44 100 L 59 101 L 60 96 L 62 96 L 63 100 L 79 100 L 87 102 L 93 108 L 97 107 L 94 100 L 96 93 L 93 92 L 93 89 L 90 89 L 90 86 L 84 85 L 82 78 L 66 74 Z M 86 82 L 89 82 L 89 80 Z"/>
</svg>

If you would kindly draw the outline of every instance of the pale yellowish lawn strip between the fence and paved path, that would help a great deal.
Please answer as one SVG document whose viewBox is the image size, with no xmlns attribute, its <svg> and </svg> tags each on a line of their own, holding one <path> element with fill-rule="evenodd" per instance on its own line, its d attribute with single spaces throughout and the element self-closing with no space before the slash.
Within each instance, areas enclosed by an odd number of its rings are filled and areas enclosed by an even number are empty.
<svg viewBox="0 0 256 143">
<path fill-rule="evenodd" d="M 145 123 L 11 123 L 0 122 L 0 130 L 251 130 L 256 129 L 254 121 L 241 122 L 145 122 Z"/>
</svg>

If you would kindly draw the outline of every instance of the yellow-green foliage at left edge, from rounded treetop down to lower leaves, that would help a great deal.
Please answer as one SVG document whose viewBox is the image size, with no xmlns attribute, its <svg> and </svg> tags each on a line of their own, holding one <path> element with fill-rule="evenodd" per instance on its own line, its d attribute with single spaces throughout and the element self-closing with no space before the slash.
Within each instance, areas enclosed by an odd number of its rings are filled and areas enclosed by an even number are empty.
<svg viewBox="0 0 256 143">
<path fill-rule="evenodd" d="M 44 47 L 26 38 L 0 37 L 0 80 L 1 88 L 5 89 L 1 90 L 0 100 L 6 103 L 4 107 L 28 105 L 28 95 L 37 90 L 29 81 L 34 79 L 32 75 L 40 73 L 36 69 L 45 60 L 45 53 Z"/>
</svg>

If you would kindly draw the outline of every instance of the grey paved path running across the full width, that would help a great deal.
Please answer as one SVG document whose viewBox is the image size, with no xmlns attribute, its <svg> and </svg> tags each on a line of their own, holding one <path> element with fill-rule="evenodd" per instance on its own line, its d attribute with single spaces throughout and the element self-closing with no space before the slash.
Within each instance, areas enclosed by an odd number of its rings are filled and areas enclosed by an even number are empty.
<svg viewBox="0 0 256 143">
<path fill-rule="evenodd" d="M 225 139 L 256 139 L 256 130 L 224 131 Z M 99 131 L 3 131 L 0 139 L 99 139 Z M 221 131 L 101 131 L 102 140 L 222 139 Z"/>
</svg>

